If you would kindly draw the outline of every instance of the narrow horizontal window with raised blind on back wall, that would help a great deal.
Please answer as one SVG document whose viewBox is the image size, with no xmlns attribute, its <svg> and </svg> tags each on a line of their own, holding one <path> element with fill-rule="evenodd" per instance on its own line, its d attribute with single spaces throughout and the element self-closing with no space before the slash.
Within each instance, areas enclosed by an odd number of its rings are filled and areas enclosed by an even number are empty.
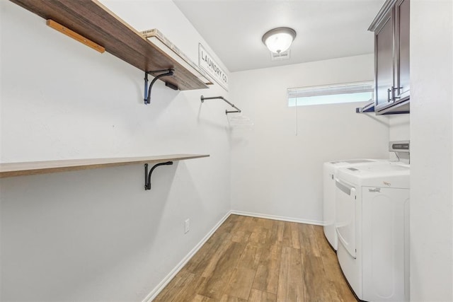
<svg viewBox="0 0 453 302">
<path fill-rule="evenodd" d="M 373 99 L 373 81 L 288 88 L 288 106 L 366 102 Z"/>
</svg>

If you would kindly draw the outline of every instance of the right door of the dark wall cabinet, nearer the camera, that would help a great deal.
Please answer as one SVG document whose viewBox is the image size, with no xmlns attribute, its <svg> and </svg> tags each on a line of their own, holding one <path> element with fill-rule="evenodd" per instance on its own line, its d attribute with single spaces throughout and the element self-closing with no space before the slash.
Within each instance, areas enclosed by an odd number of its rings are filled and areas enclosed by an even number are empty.
<svg viewBox="0 0 453 302">
<path fill-rule="evenodd" d="M 396 12 L 396 87 L 397 100 L 408 98 L 409 86 L 409 0 L 398 1 Z"/>
</svg>

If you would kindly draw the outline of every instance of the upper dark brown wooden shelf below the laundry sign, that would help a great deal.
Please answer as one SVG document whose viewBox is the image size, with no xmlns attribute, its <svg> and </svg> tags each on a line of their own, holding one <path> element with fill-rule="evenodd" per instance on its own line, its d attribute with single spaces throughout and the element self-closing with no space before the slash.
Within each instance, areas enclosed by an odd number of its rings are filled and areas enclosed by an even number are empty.
<svg viewBox="0 0 453 302">
<path fill-rule="evenodd" d="M 96 0 L 11 1 L 46 20 L 64 25 L 142 71 L 174 69 L 173 76 L 163 77 L 161 81 L 181 91 L 208 88 L 207 85 L 212 84 L 204 83 L 199 79 L 201 73 L 195 70 L 194 74 Z"/>
</svg>

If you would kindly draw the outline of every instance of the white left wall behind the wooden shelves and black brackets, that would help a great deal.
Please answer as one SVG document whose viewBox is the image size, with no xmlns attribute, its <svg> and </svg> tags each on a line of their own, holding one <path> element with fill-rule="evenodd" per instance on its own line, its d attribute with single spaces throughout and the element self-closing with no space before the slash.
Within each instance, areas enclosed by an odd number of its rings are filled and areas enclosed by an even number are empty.
<svg viewBox="0 0 453 302">
<path fill-rule="evenodd" d="M 208 47 L 171 1 L 106 4 L 194 62 Z M 2 163 L 211 155 L 157 168 L 146 192 L 142 165 L 1 179 L 1 301 L 142 300 L 231 209 L 226 106 L 200 103 L 228 94 L 159 81 L 143 105 L 142 71 L 10 1 L 0 19 Z"/>
</svg>

